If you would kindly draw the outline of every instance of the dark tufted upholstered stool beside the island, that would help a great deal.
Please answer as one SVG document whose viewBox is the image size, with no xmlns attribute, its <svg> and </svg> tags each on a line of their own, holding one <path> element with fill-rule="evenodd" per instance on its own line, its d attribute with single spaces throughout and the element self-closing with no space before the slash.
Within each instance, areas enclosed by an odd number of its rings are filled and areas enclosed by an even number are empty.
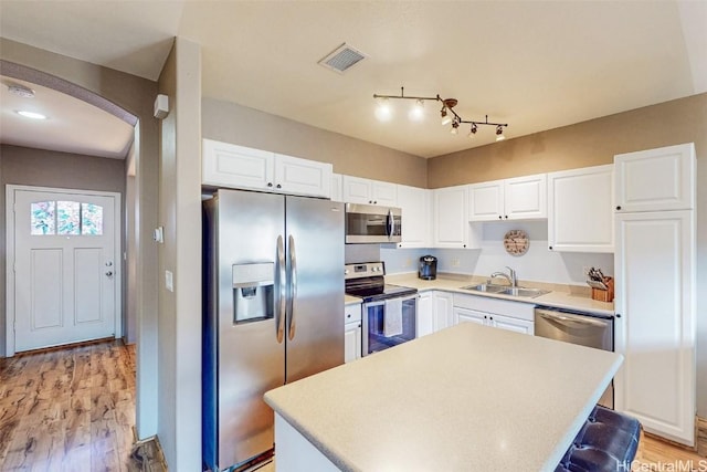
<svg viewBox="0 0 707 472">
<path fill-rule="evenodd" d="M 640 434 L 636 419 L 598 405 L 555 472 L 630 471 Z"/>
</svg>

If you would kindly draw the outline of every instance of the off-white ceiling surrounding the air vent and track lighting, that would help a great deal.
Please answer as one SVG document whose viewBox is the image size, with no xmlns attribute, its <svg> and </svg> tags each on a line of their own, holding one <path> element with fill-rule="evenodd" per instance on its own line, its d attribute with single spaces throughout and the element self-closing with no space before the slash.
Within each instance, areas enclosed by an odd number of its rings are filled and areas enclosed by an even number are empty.
<svg viewBox="0 0 707 472">
<path fill-rule="evenodd" d="M 434 103 L 410 123 L 407 101 L 379 123 L 373 93 L 454 97 L 513 138 L 707 92 L 703 0 L 2 0 L 0 34 L 151 80 L 180 35 L 202 46 L 204 96 L 424 157 L 493 129 L 452 136 Z M 368 57 L 317 65 L 344 42 Z"/>
</svg>

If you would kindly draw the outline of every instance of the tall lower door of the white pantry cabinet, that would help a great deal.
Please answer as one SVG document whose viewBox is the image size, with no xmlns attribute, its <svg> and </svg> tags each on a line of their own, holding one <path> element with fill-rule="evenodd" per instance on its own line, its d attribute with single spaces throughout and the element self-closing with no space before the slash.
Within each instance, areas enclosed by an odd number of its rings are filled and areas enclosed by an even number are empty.
<svg viewBox="0 0 707 472">
<path fill-rule="evenodd" d="M 694 444 L 694 211 L 616 217 L 615 408 L 648 432 Z"/>
</svg>

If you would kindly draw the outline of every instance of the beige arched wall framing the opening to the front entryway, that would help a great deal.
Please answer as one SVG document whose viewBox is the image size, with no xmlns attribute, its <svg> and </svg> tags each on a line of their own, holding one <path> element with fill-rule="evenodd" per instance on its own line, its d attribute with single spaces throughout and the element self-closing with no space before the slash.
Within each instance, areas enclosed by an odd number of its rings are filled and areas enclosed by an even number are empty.
<svg viewBox="0 0 707 472">
<path fill-rule="evenodd" d="M 157 248 L 151 242 L 157 227 L 158 129 L 152 117 L 157 83 L 88 62 L 0 38 L 0 59 L 67 81 L 102 96 L 139 119 L 137 135 L 136 201 L 138 220 L 137 271 L 137 432 L 157 432 Z M 125 176 L 125 172 L 123 172 Z M 4 227 L 4 221 L 2 222 Z M 4 230 L 3 230 L 4 231 Z M 3 252 L 4 254 L 4 252 Z M 4 272 L 3 272 L 4 273 Z M 4 286 L 4 284 L 3 284 Z M 3 289 L 4 290 L 4 289 Z M 4 303 L 0 306 L 4 318 Z M 4 336 L 4 333 L 0 333 Z"/>
</svg>

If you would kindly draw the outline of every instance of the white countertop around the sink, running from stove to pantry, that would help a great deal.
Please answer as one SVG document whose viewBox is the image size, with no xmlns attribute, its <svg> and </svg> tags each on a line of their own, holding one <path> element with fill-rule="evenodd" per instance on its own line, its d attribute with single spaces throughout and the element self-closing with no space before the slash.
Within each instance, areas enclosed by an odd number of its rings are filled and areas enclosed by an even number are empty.
<svg viewBox="0 0 707 472">
<path fill-rule="evenodd" d="M 461 287 L 475 284 L 478 282 L 472 282 L 472 277 L 464 276 L 444 276 L 440 275 L 436 280 L 425 281 L 418 277 L 416 273 L 409 274 L 391 274 L 386 275 L 386 282 L 404 285 L 413 289 L 418 289 L 421 292 L 426 290 L 443 290 L 446 292 L 463 293 L 466 295 L 488 296 L 493 298 L 511 300 L 514 302 L 530 303 L 534 305 L 555 306 L 558 308 L 576 310 L 579 312 L 597 313 L 600 315 L 613 316 L 614 305 L 613 303 L 598 302 L 589 296 L 576 295 L 569 292 L 552 291 L 546 295 L 540 295 L 535 298 L 524 296 L 510 296 L 502 295 L 497 293 L 483 293 L 468 290 L 461 290 Z"/>
</svg>

